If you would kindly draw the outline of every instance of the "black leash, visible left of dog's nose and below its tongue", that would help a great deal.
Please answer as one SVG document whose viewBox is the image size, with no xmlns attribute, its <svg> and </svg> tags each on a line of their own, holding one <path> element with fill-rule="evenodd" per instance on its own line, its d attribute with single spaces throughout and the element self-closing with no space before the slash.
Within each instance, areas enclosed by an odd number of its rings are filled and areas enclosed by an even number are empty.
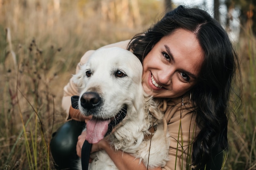
<svg viewBox="0 0 256 170">
<path fill-rule="evenodd" d="M 79 100 L 79 96 L 71 97 L 72 108 L 78 109 L 78 100 Z M 90 144 L 87 140 L 85 140 L 81 150 L 82 170 L 88 170 L 91 150 L 92 150 L 92 144 Z"/>
</svg>

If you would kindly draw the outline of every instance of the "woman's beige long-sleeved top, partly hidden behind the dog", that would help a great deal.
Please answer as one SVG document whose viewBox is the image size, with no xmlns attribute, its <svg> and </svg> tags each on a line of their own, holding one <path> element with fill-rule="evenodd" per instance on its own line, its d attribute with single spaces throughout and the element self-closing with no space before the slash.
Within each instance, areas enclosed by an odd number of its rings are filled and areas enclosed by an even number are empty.
<svg viewBox="0 0 256 170">
<path fill-rule="evenodd" d="M 118 46 L 123 49 L 126 49 L 129 41 L 130 40 L 117 42 L 115 44 L 110 44 L 107 46 L 103 46 L 101 48 Z M 83 55 L 79 64 L 76 67 L 76 73 L 79 71 L 79 67 L 87 62 L 88 57 L 93 52 L 94 50 L 90 50 Z M 62 107 L 67 113 L 67 119 L 70 119 L 69 109 L 71 106 L 70 97 L 72 95 L 79 94 L 71 78 L 70 82 L 68 82 L 68 84 L 64 87 L 64 95 L 62 99 Z M 171 143 L 169 148 L 170 161 L 168 161 L 166 166 L 164 166 L 162 169 L 186 170 L 186 167 L 191 164 L 191 143 L 193 142 L 193 139 L 200 131 L 200 128 L 198 128 L 198 126 L 195 126 L 195 112 L 193 111 L 193 107 L 189 100 L 189 97 L 178 97 L 175 99 L 168 99 L 165 100 L 165 102 L 163 103 L 166 104 L 166 107 L 164 107 L 163 111 L 164 117 L 167 122 L 168 132 L 171 135 Z"/>
</svg>

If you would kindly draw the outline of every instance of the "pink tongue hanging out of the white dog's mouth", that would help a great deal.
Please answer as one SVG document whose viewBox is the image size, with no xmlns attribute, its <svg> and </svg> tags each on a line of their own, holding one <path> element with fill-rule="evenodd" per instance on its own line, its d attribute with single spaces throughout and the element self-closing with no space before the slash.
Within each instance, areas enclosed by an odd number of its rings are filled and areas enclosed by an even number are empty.
<svg viewBox="0 0 256 170">
<path fill-rule="evenodd" d="M 90 144 L 98 143 L 104 138 L 108 130 L 109 122 L 110 120 L 96 120 L 92 118 L 86 124 L 87 135 L 85 139 Z"/>
</svg>

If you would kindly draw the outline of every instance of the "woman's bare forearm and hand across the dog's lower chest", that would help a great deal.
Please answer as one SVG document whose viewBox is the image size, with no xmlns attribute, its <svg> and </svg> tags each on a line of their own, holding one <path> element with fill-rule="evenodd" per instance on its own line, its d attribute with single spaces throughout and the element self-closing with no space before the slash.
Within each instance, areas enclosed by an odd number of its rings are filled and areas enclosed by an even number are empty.
<svg viewBox="0 0 256 170">
<path fill-rule="evenodd" d="M 83 142 L 85 141 L 85 137 L 86 131 L 82 132 L 82 134 L 78 137 L 76 152 L 79 157 L 81 157 L 81 148 L 83 146 Z M 119 170 L 147 170 L 144 163 L 139 163 L 139 159 L 126 152 L 123 152 L 122 150 L 115 151 L 115 149 L 111 148 L 110 144 L 105 139 L 102 139 L 97 144 L 92 144 L 91 152 L 97 152 L 99 150 L 105 150 Z M 154 168 L 154 170 L 161 170 L 161 167 Z"/>
</svg>

